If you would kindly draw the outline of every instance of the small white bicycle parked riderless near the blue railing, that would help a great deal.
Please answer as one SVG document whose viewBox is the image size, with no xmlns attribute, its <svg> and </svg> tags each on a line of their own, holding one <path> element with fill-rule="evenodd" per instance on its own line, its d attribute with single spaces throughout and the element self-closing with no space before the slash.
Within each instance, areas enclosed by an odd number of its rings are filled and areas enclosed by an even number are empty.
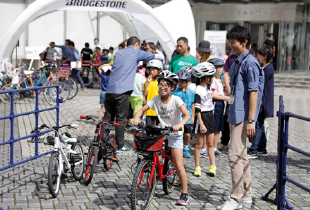
<svg viewBox="0 0 310 210">
<path fill-rule="evenodd" d="M 83 176 L 84 153 L 81 145 L 76 144 L 76 138 L 68 138 L 59 131 L 63 127 L 76 129 L 77 126 L 72 124 L 49 128 L 55 131 L 54 151 L 48 164 L 48 188 L 54 198 L 58 196 L 62 175 L 69 169 L 77 181 Z"/>
</svg>

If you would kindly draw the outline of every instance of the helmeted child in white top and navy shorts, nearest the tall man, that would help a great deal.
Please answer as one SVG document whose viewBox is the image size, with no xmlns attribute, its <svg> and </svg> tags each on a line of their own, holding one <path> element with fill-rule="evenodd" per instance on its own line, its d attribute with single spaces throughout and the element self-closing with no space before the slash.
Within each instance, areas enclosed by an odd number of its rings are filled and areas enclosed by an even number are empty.
<svg viewBox="0 0 310 210">
<path fill-rule="evenodd" d="M 224 87 L 221 79 L 224 62 L 219 58 L 212 58 L 208 62 L 212 63 L 216 68 L 215 78 L 211 85 L 212 99 L 214 104 L 214 152 L 218 157 L 225 157 L 226 155 L 217 149 L 217 143 L 220 139 L 220 132 L 224 130 L 225 101 L 227 103 L 229 102 L 229 96 L 224 95 Z"/>
</svg>

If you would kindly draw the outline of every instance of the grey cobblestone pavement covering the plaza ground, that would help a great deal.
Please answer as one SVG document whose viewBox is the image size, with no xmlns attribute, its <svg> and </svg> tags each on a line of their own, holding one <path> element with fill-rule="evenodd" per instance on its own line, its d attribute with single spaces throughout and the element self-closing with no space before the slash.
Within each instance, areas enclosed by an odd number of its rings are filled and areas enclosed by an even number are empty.
<svg viewBox="0 0 310 210">
<path fill-rule="evenodd" d="M 278 109 L 278 97 L 284 96 L 285 110 L 296 114 L 310 116 L 309 90 L 293 88 L 275 89 L 275 110 Z M 79 124 L 77 131 L 69 131 L 77 136 L 83 145 L 84 152 L 92 140 L 95 125 L 79 120 L 79 115 L 94 115 L 99 113 L 98 89 L 88 89 L 81 92 L 76 98 L 61 104 L 60 124 Z M 15 111 L 24 112 L 34 109 L 34 99 L 23 99 L 15 105 Z M 40 96 L 40 107 L 48 107 L 44 97 Z M 0 103 L 1 115 L 9 114 L 9 106 Z M 40 123 L 55 124 L 55 111 L 40 113 Z M 14 125 L 14 136 L 25 136 L 34 127 L 34 115 L 18 117 Z M 276 209 L 276 206 L 261 200 L 276 181 L 276 151 L 277 151 L 277 118 L 268 119 L 270 126 L 270 139 L 268 142 L 268 157 L 252 159 L 252 186 L 254 202 L 244 209 Z M 10 121 L 0 121 L 0 141 L 10 138 Z M 292 119 L 290 121 L 289 142 L 293 146 L 310 151 L 309 123 Z M 132 137 L 126 134 L 126 144 L 132 145 Z M 10 147 L 0 147 L 0 167 L 9 163 Z M 52 146 L 39 144 L 39 153 L 52 149 Z M 227 150 L 225 151 L 227 152 Z M 20 161 L 34 155 L 34 144 L 22 140 L 14 144 L 14 161 Z M 97 172 L 89 186 L 76 182 L 71 174 L 61 184 L 61 191 L 57 198 L 52 198 L 47 188 L 47 167 L 50 155 L 26 162 L 14 168 L 0 171 L 0 207 L 3 209 L 130 209 L 130 188 L 133 175 L 130 166 L 136 156 L 134 152 L 120 152 L 118 157 L 122 171 L 114 165 L 105 171 L 102 164 L 97 167 Z M 229 195 L 231 176 L 227 157 L 216 159 L 217 176 L 206 175 L 209 160 L 202 159 L 202 176 L 193 176 L 194 159 L 184 161 L 188 174 L 190 202 L 186 207 L 175 206 L 176 199 L 180 196 L 180 189 L 176 188 L 170 195 L 165 195 L 160 185 L 156 189 L 150 209 L 216 209 Z M 309 158 L 288 153 L 287 174 L 290 178 L 310 187 Z M 275 193 L 271 194 L 274 197 Z M 287 184 L 286 196 L 295 209 L 310 209 L 310 194 Z"/>
</svg>

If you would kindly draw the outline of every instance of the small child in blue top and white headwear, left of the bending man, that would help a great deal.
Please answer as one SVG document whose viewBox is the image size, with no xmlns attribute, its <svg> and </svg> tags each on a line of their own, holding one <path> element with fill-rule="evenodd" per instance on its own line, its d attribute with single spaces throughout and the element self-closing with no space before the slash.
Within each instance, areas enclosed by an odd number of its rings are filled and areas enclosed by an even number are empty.
<svg viewBox="0 0 310 210">
<path fill-rule="evenodd" d="M 100 102 L 101 105 L 100 111 L 99 111 L 99 120 L 102 120 L 102 115 L 104 112 L 104 104 L 105 104 L 105 94 L 107 91 L 110 73 L 111 73 L 111 66 L 109 64 L 103 64 L 98 68 L 99 76 L 101 77 L 101 93 L 100 93 Z"/>
</svg>

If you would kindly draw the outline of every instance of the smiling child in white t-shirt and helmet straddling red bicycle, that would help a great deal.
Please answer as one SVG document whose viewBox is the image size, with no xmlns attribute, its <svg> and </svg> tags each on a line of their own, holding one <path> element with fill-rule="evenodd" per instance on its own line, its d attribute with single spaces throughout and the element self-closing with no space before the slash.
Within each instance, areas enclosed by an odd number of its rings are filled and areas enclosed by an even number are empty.
<svg viewBox="0 0 310 210">
<path fill-rule="evenodd" d="M 140 109 L 132 124 L 138 125 L 141 116 L 149 109 L 155 110 L 157 113 L 160 126 L 173 126 L 174 135 L 167 136 L 168 145 L 171 148 L 175 169 L 180 177 L 182 194 L 178 200 L 178 205 L 186 205 L 188 202 L 187 194 L 187 174 L 183 165 L 183 131 L 179 128 L 183 127 L 189 120 L 190 115 L 186 110 L 186 106 L 182 99 L 172 95 L 172 91 L 176 88 L 178 77 L 169 71 L 163 71 L 158 75 L 158 92 L 159 95 L 153 97 L 147 104 Z M 182 115 L 184 118 L 182 119 Z"/>
</svg>

